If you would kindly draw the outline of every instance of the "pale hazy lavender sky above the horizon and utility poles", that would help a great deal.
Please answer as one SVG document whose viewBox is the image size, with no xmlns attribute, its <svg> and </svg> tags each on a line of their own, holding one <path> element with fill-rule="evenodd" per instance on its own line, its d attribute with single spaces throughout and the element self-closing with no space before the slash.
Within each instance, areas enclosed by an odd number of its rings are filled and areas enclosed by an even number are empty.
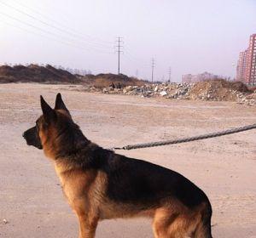
<svg viewBox="0 0 256 238">
<path fill-rule="evenodd" d="M 0 0 L 0 64 L 63 65 L 180 81 L 209 71 L 234 77 L 256 33 L 256 0 Z"/>
</svg>

